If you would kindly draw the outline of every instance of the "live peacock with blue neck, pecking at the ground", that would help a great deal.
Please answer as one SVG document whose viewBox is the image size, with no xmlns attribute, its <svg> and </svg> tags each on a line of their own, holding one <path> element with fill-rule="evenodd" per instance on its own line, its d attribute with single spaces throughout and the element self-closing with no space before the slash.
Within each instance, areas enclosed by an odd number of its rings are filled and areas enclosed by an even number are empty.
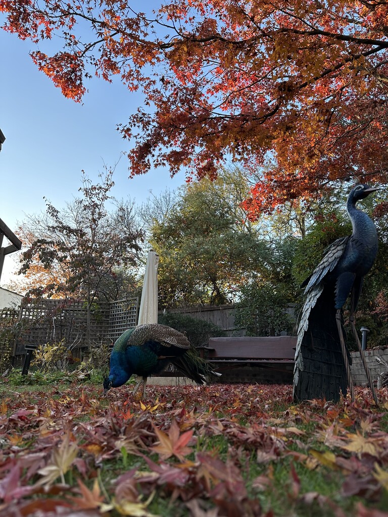
<svg viewBox="0 0 388 517">
<path fill-rule="evenodd" d="M 125 384 L 132 374 L 142 377 L 134 393 L 145 395 L 147 377 L 161 372 L 172 363 L 184 376 L 197 384 L 206 382 L 214 372 L 211 364 L 201 358 L 186 336 L 174 328 L 148 323 L 126 330 L 113 345 L 109 376 L 103 381 L 105 393 Z"/>
</svg>

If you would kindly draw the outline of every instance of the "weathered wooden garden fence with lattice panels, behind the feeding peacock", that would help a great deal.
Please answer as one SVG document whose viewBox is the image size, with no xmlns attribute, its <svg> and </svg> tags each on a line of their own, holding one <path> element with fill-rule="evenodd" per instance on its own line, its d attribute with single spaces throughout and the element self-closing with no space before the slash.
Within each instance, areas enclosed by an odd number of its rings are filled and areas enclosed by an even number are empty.
<svg viewBox="0 0 388 517">
<path fill-rule="evenodd" d="M 290 308 L 290 311 L 292 312 L 293 308 Z M 95 344 L 114 342 L 124 330 L 136 326 L 138 312 L 138 298 L 93 306 L 90 327 L 91 342 Z M 244 328 L 236 328 L 234 305 L 187 307 L 171 312 L 183 313 L 213 323 L 222 328 L 229 337 L 245 335 Z M 11 325 L 10 322 L 13 324 L 19 322 L 17 331 L 11 337 L 9 332 L 6 333 L 7 337 L 4 337 L 2 321 L 7 322 L 7 327 Z M 14 358 L 20 358 L 25 354 L 27 344 L 54 343 L 64 339 L 68 347 L 85 347 L 86 322 L 87 308 L 84 301 L 50 299 L 37 302 L 24 299 L 19 311 L 0 310 L 0 358 L 5 353 L 9 354 L 10 340 L 12 341 L 11 355 Z M 18 363 L 20 359 L 17 361 Z"/>
</svg>

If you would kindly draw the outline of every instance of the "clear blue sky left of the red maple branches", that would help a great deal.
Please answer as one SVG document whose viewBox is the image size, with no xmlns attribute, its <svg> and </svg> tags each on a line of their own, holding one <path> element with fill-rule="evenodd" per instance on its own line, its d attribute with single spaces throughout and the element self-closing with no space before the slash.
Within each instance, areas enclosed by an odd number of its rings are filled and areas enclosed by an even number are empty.
<svg viewBox="0 0 388 517">
<path fill-rule="evenodd" d="M 75 103 L 38 71 L 28 55 L 33 43 L 0 29 L 0 48 L 0 128 L 6 137 L 0 153 L 0 218 L 12 230 L 24 214 L 44 210 L 43 196 L 61 208 L 77 195 L 82 170 L 97 180 L 104 164 L 113 166 L 130 149 L 115 127 L 142 99 L 118 80 L 109 84 L 95 78 L 87 84 L 83 104 Z M 140 204 L 150 190 L 157 194 L 184 180 L 183 173 L 170 178 L 168 170 L 159 169 L 128 179 L 122 156 L 112 193 Z M 8 269 L 5 264 L 1 284 Z"/>
</svg>

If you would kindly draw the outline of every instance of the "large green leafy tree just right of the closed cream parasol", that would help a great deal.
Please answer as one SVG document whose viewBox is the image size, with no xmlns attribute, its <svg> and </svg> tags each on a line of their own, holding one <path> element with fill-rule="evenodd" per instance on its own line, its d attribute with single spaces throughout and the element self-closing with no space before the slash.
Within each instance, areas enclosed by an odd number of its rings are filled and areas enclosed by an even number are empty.
<svg viewBox="0 0 388 517">
<path fill-rule="evenodd" d="M 155 221 L 151 244 L 159 254 L 159 307 L 232 302 L 247 275 L 270 256 L 241 203 L 248 183 L 240 171 L 181 189 L 166 217 Z"/>
</svg>

